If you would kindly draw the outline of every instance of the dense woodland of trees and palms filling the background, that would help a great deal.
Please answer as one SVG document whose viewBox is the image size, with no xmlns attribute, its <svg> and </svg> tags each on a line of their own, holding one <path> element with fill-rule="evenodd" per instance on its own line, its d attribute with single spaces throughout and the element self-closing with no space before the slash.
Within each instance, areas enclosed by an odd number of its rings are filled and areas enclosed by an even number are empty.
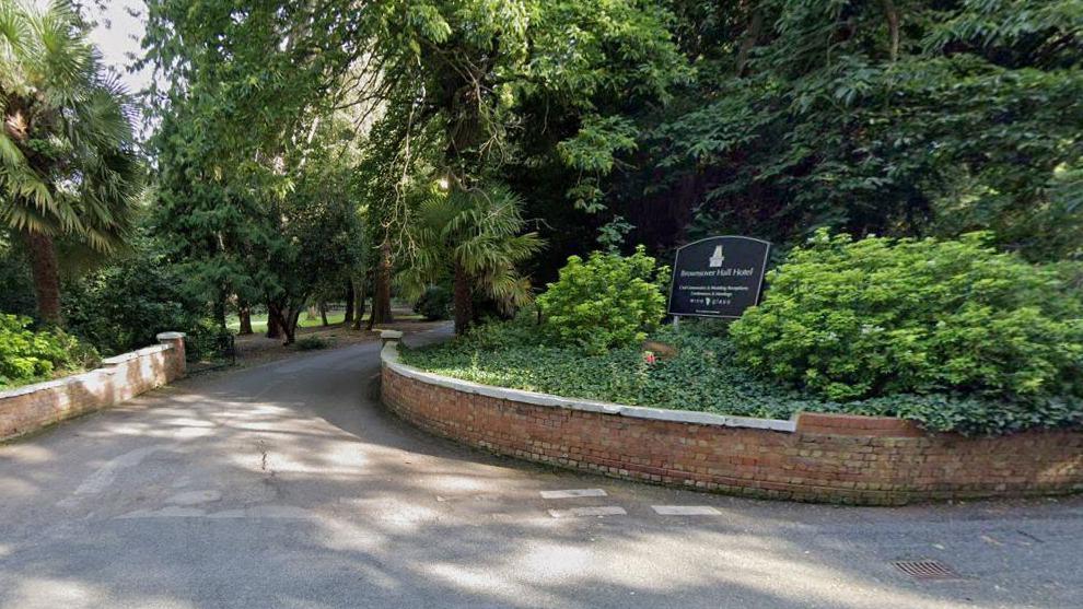
<svg viewBox="0 0 1083 609">
<path fill-rule="evenodd" d="M 990 232 L 1083 258 L 1081 0 L 0 0 L 0 311 L 112 352 L 445 290 L 464 330 L 594 249 Z M 143 133 L 144 137 L 138 137 Z"/>
</svg>

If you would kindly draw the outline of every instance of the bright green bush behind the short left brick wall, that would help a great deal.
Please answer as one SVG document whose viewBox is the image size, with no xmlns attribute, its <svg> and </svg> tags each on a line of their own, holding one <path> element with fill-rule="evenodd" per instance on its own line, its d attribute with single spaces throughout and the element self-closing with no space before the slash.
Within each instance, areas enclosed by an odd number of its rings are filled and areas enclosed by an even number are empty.
<svg viewBox="0 0 1083 609">
<path fill-rule="evenodd" d="M 35 332 L 31 319 L 0 314 L 0 389 L 48 380 L 97 363 L 97 353 L 60 330 Z"/>
</svg>

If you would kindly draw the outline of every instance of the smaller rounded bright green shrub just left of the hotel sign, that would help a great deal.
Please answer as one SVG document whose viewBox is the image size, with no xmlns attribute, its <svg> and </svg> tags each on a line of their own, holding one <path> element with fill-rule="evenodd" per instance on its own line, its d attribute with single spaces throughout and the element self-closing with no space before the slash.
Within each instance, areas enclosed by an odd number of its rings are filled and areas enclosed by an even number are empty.
<svg viewBox="0 0 1083 609">
<path fill-rule="evenodd" d="M 552 340 L 590 353 L 640 342 L 665 315 L 660 285 L 667 274 L 643 246 L 628 257 L 595 251 L 584 262 L 572 256 L 538 297 L 544 328 Z"/>
</svg>

